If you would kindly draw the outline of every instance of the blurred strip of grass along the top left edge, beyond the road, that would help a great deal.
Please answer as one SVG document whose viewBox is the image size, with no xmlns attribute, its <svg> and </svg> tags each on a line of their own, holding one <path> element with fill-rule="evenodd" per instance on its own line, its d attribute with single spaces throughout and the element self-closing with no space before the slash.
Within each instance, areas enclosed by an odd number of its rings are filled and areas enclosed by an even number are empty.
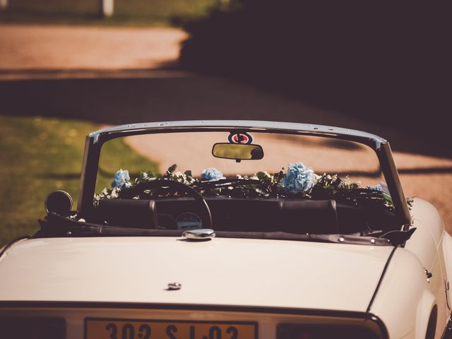
<svg viewBox="0 0 452 339">
<path fill-rule="evenodd" d="M 0 22 L 93 25 L 174 25 L 206 15 L 217 0 L 114 0 L 114 16 L 99 16 L 100 0 L 9 0 Z"/>
</svg>

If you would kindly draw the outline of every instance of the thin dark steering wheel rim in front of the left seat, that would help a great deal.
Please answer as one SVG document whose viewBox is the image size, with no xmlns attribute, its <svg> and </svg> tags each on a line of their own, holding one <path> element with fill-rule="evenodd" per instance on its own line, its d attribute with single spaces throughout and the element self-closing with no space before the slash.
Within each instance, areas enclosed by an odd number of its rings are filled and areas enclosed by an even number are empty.
<svg viewBox="0 0 452 339">
<path fill-rule="evenodd" d="M 140 184 L 138 187 L 134 189 L 134 192 L 130 192 L 131 194 L 136 194 L 136 189 L 139 191 L 144 191 L 145 189 L 157 189 L 160 187 L 169 187 L 170 189 L 177 189 L 177 191 L 182 191 L 188 194 L 191 198 L 201 206 L 203 213 L 201 215 L 201 220 L 203 222 L 203 228 L 212 228 L 212 213 L 210 213 L 210 208 L 206 202 L 206 199 L 201 196 L 195 189 L 187 186 L 186 184 L 182 184 L 182 182 L 175 182 L 174 180 L 162 180 L 156 179 L 152 182 L 145 182 Z"/>
</svg>

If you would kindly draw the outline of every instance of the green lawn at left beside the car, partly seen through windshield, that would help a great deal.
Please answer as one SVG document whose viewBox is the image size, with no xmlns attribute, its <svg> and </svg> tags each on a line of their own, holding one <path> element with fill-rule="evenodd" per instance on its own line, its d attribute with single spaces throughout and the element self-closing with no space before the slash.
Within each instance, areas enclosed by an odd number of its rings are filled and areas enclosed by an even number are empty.
<svg viewBox="0 0 452 339">
<path fill-rule="evenodd" d="M 51 191 L 69 192 L 75 208 L 85 135 L 96 129 L 99 126 L 86 121 L 0 117 L 0 246 L 37 231 L 37 219 L 45 215 L 44 198 Z M 157 169 L 122 142 L 102 150 L 110 169 L 119 169 L 117 154 L 131 170 Z M 99 177 L 98 182 L 109 187 L 112 177 Z"/>
</svg>

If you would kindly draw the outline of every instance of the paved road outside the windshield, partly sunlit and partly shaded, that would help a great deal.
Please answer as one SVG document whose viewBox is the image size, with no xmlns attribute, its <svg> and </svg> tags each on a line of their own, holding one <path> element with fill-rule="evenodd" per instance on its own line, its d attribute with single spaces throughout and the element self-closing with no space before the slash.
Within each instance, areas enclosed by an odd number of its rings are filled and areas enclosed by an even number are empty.
<svg viewBox="0 0 452 339">
<path fill-rule="evenodd" d="M 434 203 L 452 231 L 452 160 L 434 145 L 222 78 L 180 71 L 184 32 L 161 28 L 0 25 L 1 114 L 102 124 L 177 119 L 263 119 L 347 126 L 388 138 L 407 196 Z"/>
</svg>

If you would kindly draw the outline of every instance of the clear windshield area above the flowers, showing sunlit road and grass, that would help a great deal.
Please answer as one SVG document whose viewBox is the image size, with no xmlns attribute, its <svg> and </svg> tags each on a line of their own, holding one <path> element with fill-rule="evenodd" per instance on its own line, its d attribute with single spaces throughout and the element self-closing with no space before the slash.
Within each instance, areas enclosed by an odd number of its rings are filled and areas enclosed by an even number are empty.
<svg viewBox="0 0 452 339">
<path fill-rule="evenodd" d="M 234 139 L 235 138 L 235 139 Z M 96 193 L 110 188 L 114 174 L 119 170 L 129 172 L 133 182 L 141 172 L 165 174 L 172 165 L 175 172 L 189 170 L 198 179 L 252 178 L 258 172 L 276 174 L 292 164 L 298 169 L 312 169 L 319 182 L 322 174 L 330 174 L 359 187 L 385 189 L 379 161 L 374 150 L 359 143 L 319 136 L 299 136 L 280 133 L 242 133 L 242 143 L 261 146 L 260 159 L 242 157 L 244 160 L 225 159 L 213 155 L 216 143 L 237 143 L 237 134 L 228 132 L 156 133 L 128 136 L 107 141 L 102 147 L 97 175 Z M 297 165 L 299 164 L 299 165 Z M 303 167 L 300 167 L 303 166 Z M 218 178 L 202 177 L 206 169 L 213 170 Z M 212 172 L 212 171 L 210 171 Z M 303 175 L 299 170 L 295 174 Z M 309 177 L 309 176 L 308 176 Z M 310 193 L 309 188 L 304 193 Z"/>
</svg>

